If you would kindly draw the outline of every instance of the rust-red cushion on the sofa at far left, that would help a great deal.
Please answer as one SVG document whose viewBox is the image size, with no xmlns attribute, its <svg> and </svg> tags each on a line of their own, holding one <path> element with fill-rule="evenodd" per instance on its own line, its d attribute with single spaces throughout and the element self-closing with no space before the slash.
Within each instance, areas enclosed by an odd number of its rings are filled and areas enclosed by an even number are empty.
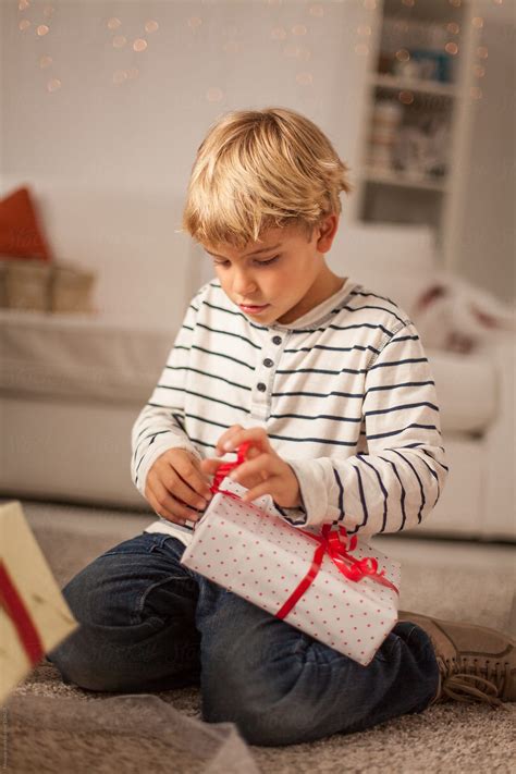
<svg viewBox="0 0 516 774">
<path fill-rule="evenodd" d="M 0 256 L 52 260 L 28 188 L 0 200 Z"/>
</svg>

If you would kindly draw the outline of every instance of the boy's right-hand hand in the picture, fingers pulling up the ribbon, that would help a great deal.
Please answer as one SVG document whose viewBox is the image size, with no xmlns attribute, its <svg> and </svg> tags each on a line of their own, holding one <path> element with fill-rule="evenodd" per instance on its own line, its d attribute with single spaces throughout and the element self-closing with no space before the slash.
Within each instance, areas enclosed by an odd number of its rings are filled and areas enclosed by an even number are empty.
<svg viewBox="0 0 516 774">
<path fill-rule="evenodd" d="M 291 466 L 274 452 L 262 428 L 244 430 L 241 425 L 233 425 L 220 437 L 216 453 L 223 455 L 234 452 L 246 441 L 253 444 L 247 452 L 247 462 L 230 474 L 233 481 L 249 490 L 242 500 L 250 502 L 263 494 L 270 494 L 281 507 L 294 508 L 300 505 L 297 477 Z M 200 467 L 213 476 L 222 464 L 222 459 L 204 459 Z"/>
</svg>

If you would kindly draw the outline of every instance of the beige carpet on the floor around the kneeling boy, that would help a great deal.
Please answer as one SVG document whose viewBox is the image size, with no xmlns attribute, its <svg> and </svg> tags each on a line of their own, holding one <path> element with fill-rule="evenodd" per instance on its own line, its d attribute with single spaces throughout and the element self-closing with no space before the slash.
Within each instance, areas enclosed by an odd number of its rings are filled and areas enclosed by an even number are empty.
<svg viewBox="0 0 516 774">
<path fill-rule="evenodd" d="M 99 553 L 136 535 L 149 521 L 142 514 L 123 515 L 101 508 L 24 503 L 24 509 L 60 586 Z M 402 609 L 505 630 L 513 628 L 515 575 L 511 546 L 471 548 L 460 542 L 404 540 L 394 536 L 376 539 L 376 543 L 403 563 Z M 217 763 L 205 767 L 200 760 L 194 761 L 187 754 L 172 757 L 173 734 L 161 740 L 155 738 L 151 744 L 142 735 L 132 734 L 131 728 L 125 735 L 111 730 L 110 736 L 105 734 L 105 737 L 97 728 L 96 736 L 88 737 L 88 723 L 99 715 L 101 705 L 120 696 L 123 695 L 95 693 L 66 686 L 53 665 L 42 662 L 13 693 L 11 717 L 9 703 L 3 710 L 1 760 L 4 767 L 21 774 L 108 772 L 114 767 L 120 774 L 142 770 L 177 774 L 223 771 Z M 179 711 L 184 718 L 199 718 L 196 688 L 163 691 L 153 698 L 155 701 L 150 699 L 152 711 L 159 712 L 162 708 L 164 726 L 167 707 Z M 71 733 L 63 726 L 61 733 L 54 728 L 45 738 L 41 736 L 34 717 L 41 717 L 40 725 L 45 725 L 42 714 L 48 712 L 45 707 L 50 707 L 49 701 L 57 702 L 51 709 L 56 715 L 61 712 L 63 717 L 67 708 L 77 708 L 81 702 L 81 712 L 75 710 L 76 723 L 69 723 L 73 726 Z M 106 709 L 108 707 L 113 722 L 116 721 L 116 712 L 111 710 L 111 704 L 106 704 Z M 243 764 L 238 774 L 247 771 L 462 773 L 472 767 L 481 773 L 508 773 L 514 770 L 516 760 L 516 704 L 507 707 L 509 713 L 493 711 L 483 704 L 446 703 L 363 733 L 335 734 L 317 742 L 290 747 L 248 746 L 244 752 L 254 763 Z M 124 714 L 120 709 L 118 713 L 120 723 L 128 717 L 127 711 Z M 24 720 L 29 717 L 30 721 Z M 228 726 L 224 738 L 238 746 L 238 735 L 230 734 L 232 724 L 216 726 Z M 38 748 L 38 742 L 42 747 Z M 81 752 L 83 749 L 89 750 L 87 755 Z M 242 749 L 237 750 L 239 753 Z"/>
</svg>

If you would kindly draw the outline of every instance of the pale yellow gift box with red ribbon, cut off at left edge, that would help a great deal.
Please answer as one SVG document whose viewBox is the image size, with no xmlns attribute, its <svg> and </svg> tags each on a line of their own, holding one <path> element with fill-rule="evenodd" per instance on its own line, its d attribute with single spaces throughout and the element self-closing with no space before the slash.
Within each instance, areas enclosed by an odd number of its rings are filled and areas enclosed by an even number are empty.
<svg viewBox="0 0 516 774">
<path fill-rule="evenodd" d="M 0 505 L 0 704 L 77 627 L 21 503 Z"/>
</svg>

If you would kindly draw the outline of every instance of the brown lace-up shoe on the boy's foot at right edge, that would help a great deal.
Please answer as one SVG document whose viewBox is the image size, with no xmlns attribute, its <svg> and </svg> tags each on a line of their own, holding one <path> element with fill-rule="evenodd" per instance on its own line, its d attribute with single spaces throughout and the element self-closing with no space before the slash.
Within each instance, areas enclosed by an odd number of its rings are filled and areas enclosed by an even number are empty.
<svg viewBox="0 0 516 774">
<path fill-rule="evenodd" d="M 496 629 L 431 618 L 400 611 L 398 621 L 420 626 L 435 651 L 439 689 L 430 704 L 456 701 L 488 702 L 507 710 L 516 701 L 515 640 Z"/>
</svg>

